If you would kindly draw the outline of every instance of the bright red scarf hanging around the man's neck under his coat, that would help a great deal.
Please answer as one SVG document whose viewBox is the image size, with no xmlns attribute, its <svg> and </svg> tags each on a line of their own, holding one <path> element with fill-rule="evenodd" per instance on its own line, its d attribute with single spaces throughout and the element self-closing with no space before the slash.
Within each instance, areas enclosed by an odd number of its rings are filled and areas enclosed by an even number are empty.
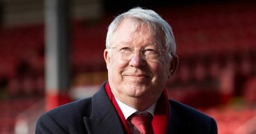
<svg viewBox="0 0 256 134">
<path fill-rule="evenodd" d="M 118 106 L 118 104 L 115 100 L 115 96 L 113 95 L 113 93 L 110 89 L 109 82 L 106 83 L 105 89 L 106 89 L 106 93 L 108 94 L 109 100 L 112 101 L 112 103 L 116 109 L 116 112 L 118 113 L 118 115 L 122 121 L 125 131 L 128 134 L 131 134 L 131 130 L 125 120 L 124 114 L 123 114 L 122 110 L 120 109 L 120 107 Z M 168 96 L 166 93 L 166 89 L 164 89 L 159 100 L 157 101 L 156 110 L 155 110 L 154 118 L 152 121 L 152 128 L 153 128 L 154 133 L 157 133 L 157 134 L 165 134 L 166 133 L 168 117 L 169 117 L 169 102 L 168 102 Z"/>
</svg>

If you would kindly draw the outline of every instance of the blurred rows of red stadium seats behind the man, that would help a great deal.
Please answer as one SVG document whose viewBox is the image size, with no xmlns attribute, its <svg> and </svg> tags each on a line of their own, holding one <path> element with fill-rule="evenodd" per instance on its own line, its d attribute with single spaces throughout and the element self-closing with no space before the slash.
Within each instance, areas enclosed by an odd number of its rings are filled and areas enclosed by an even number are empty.
<svg viewBox="0 0 256 134">
<path fill-rule="evenodd" d="M 221 134 L 242 131 L 256 115 L 255 108 L 226 107 L 234 98 L 243 98 L 244 84 L 255 77 L 254 6 L 234 3 L 159 10 L 173 27 L 180 57 L 177 74 L 167 85 L 169 96 L 212 115 Z M 96 24 L 72 22 L 71 89 L 98 86 L 106 78 L 102 52 L 111 19 L 106 16 Z M 44 98 L 44 25 L 2 28 L 0 40 L 0 133 L 4 134 L 13 133 L 16 117 Z"/>
</svg>

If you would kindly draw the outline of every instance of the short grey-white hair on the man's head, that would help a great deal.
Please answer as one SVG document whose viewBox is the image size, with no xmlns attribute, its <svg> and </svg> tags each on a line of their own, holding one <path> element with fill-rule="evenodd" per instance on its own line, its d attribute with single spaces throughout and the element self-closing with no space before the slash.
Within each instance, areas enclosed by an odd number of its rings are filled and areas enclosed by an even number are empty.
<svg viewBox="0 0 256 134">
<path fill-rule="evenodd" d="M 140 7 L 132 8 L 131 10 L 118 15 L 109 25 L 106 37 L 106 48 L 111 47 L 111 38 L 122 20 L 126 18 L 141 20 L 148 24 L 150 29 L 154 32 L 161 29 L 164 33 L 165 46 L 169 56 L 176 53 L 176 43 L 172 32 L 172 27 L 166 22 L 158 13 L 153 10 L 142 9 Z"/>
</svg>

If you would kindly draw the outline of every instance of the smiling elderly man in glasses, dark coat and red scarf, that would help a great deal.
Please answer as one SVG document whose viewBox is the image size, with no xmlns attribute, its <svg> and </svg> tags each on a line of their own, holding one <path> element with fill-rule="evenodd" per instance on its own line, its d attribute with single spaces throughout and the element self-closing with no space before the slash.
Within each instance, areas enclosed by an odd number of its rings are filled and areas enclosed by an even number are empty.
<svg viewBox="0 0 256 134">
<path fill-rule="evenodd" d="M 133 8 L 108 27 L 108 82 L 91 98 L 43 114 L 36 133 L 215 134 L 214 119 L 177 101 L 164 86 L 178 64 L 170 25 L 155 11 Z"/>
</svg>

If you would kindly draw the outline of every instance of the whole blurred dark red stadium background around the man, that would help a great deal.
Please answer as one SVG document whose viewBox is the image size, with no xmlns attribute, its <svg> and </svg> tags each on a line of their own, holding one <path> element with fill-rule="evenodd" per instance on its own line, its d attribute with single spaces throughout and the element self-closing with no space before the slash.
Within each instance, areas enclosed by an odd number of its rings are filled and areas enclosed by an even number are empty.
<svg viewBox="0 0 256 134">
<path fill-rule="evenodd" d="M 220 134 L 256 133 L 255 1 L 66 2 L 61 8 L 58 0 L 0 0 L 1 134 L 35 133 L 43 112 L 92 96 L 107 80 L 103 51 L 108 25 L 135 6 L 157 11 L 173 27 L 180 63 L 166 86 L 169 97 L 214 117 Z M 67 21 L 54 23 L 54 17 Z M 56 33 L 65 40 L 57 49 L 67 51 L 57 56 L 67 65 L 60 71 L 67 73 L 64 87 L 49 80 L 54 69 L 47 63 L 54 62 L 47 61 L 56 58 L 51 24 L 64 27 Z"/>
</svg>

